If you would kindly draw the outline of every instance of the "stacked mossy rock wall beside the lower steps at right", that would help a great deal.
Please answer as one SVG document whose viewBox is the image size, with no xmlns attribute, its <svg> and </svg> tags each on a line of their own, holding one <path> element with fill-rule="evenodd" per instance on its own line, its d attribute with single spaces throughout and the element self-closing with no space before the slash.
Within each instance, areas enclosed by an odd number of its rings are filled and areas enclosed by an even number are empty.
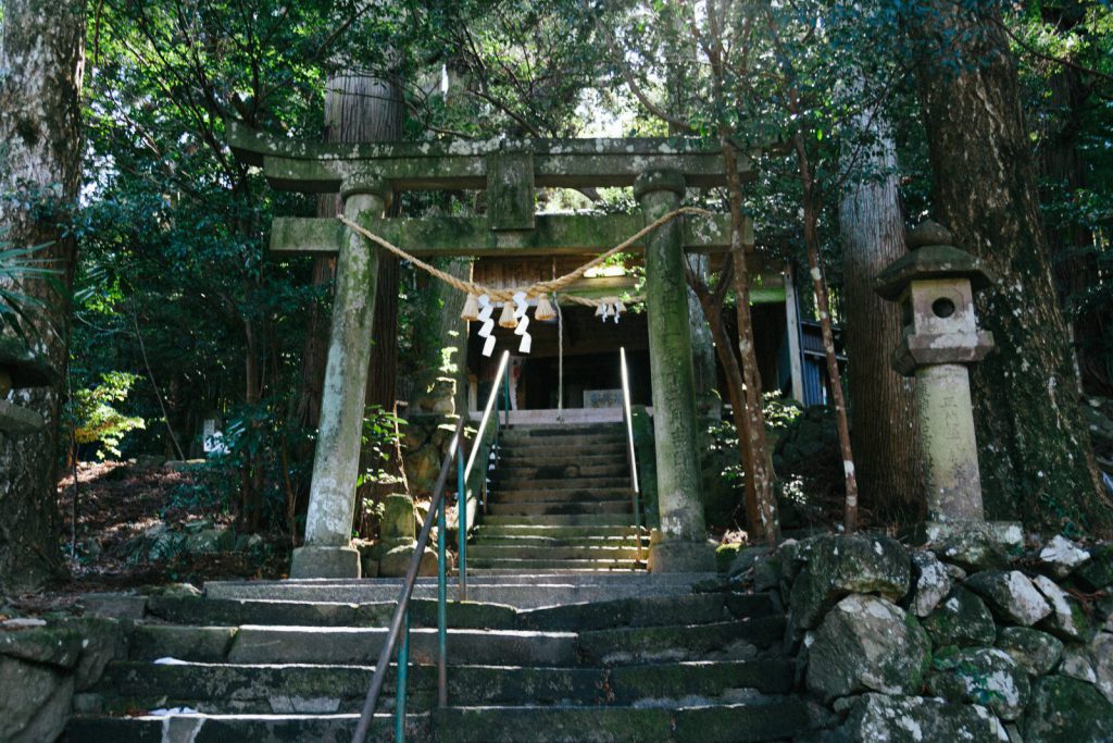
<svg viewBox="0 0 1113 743">
<path fill-rule="evenodd" d="M 1113 741 L 1113 545 L 825 535 L 740 560 L 837 713 L 824 740 Z"/>
</svg>

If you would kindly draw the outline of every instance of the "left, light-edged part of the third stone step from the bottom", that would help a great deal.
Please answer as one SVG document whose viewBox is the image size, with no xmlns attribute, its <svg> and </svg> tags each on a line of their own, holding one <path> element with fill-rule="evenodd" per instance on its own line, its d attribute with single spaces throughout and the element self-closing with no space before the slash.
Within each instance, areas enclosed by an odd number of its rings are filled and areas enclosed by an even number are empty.
<svg viewBox="0 0 1113 743">
<path fill-rule="evenodd" d="M 374 663 L 385 637 L 385 627 L 140 625 L 129 654 L 132 661 L 173 657 L 200 663 L 358 665 Z M 435 628 L 411 630 L 414 663 L 435 663 L 436 646 Z M 573 633 L 450 628 L 447 636 L 447 657 L 454 664 L 500 658 L 508 665 L 573 665 L 575 647 Z"/>
</svg>

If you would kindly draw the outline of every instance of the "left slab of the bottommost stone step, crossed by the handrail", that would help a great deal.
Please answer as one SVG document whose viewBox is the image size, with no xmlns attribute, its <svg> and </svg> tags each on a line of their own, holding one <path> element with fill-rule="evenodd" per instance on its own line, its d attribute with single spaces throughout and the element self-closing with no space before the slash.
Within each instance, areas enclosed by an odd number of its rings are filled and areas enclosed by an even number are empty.
<svg viewBox="0 0 1113 743">
<path fill-rule="evenodd" d="M 314 741 L 351 743 L 358 714 L 336 715 L 77 715 L 66 727 L 67 743 L 229 743 Z M 406 740 L 431 740 L 430 715 L 406 715 Z M 394 741 L 394 717 L 376 714 L 368 741 Z"/>
</svg>

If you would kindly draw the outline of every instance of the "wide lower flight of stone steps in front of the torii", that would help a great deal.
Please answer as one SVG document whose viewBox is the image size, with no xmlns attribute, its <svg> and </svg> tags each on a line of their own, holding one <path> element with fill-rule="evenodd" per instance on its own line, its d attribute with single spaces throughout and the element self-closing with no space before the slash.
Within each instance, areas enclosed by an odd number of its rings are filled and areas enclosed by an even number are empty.
<svg viewBox="0 0 1113 743">
<path fill-rule="evenodd" d="M 255 581 L 150 597 L 63 740 L 346 743 L 398 589 Z M 824 723 L 791 693 L 772 599 L 702 575 L 475 576 L 469 597 L 484 603 L 449 606 L 451 706 L 435 708 L 435 590 L 423 579 L 412 605 L 410 741 L 788 741 Z M 393 739 L 391 675 L 372 740 Z"/>
</svg>

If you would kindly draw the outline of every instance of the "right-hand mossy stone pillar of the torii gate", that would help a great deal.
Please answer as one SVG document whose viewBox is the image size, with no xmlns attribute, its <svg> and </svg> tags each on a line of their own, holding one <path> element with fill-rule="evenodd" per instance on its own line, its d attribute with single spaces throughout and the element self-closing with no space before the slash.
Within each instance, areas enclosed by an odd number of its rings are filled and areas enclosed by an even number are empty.
<svg viewBox="0 0 1113 743">
<path fill-rule="evenodd" d="M 650 172 L 639 176 L 633 188 L 649 224 L 680 207 L 684 179 L 678 173 Z M 715 568 L 700 493 L 682 233 L 681 221 L 673 219 L 646 238 L 646 313 L 660 517 L 660 539 L 650 547 L 649 566 L 656 573 Z"/>
</svg>

